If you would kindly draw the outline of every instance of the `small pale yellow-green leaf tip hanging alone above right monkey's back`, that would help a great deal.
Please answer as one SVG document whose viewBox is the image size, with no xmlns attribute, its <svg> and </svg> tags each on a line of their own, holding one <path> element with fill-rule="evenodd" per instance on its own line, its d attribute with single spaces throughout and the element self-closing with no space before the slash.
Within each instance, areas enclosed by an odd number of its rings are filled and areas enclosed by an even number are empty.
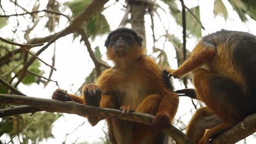
<svg viewBox="0 0 256 144">
<path fill-rule="evenodd" d="M 222 15 L 225 18 L 225 20 L 228 18 L 228 10 L 226 10 L 226 7 L 222 2 L 222 0 L 214 1 L 213 13 L 214 13 L 214 16 Z"/>
</svg>

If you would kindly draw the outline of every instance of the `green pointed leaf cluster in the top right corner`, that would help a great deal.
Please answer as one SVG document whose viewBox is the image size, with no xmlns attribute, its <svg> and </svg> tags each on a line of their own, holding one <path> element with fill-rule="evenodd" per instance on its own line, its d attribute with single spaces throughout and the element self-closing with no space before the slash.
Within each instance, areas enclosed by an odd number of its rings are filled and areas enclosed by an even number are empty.
<svg viewBox="0 0 256 144">
<path fill-rule="evenodd" d="M 246 14 L 248 14 L 253 20 L 256 20 L 256 1 L 229 0 L 229 2 L 243 22 L 247 21 Z"/>
</svg>

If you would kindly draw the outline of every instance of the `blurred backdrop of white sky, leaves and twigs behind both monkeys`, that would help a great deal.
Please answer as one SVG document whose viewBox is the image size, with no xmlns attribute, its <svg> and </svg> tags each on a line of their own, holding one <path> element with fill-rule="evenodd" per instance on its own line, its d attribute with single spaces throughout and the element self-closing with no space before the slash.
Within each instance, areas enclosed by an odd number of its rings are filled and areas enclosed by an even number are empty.
<svg viewBox="0 0 256 144">
<path fill-rule="evenodd" d="M 104 54 L 104 40 L 108 32 L 121 26 L 144 37 L 147 55 L 162 69 L 176 69 L 201 37 L 220 29 L 256 35 L 256 1 L 184 0 L 182 7 L 183 1 L 178 0 L 110 0 L 82 23 L 87 38 L 72 31 L 49 42 L 91 2 L 0 1 L 0 37 L 19 44 L 50 44 L 27 49 L 57 69 L 54 71 L 19 46 L 0 41 L 0 77 L 31 97 L 51 99 L 57 88 L 80 95 L 83 85 L 94 83 L 101 71 L 113 65 Z M 190 75 L 172 81 L 176 90 L 193 88 Z M 11 91 L 0 83 L 0 93 Z M 185 132 L 191 116 L 203 105 L 181 97 L 173 125 Z M 0 107 L 10 105 L 0 101 Z M 36 112 L 33 116 L 0 118 L 0 143 L 109 143 L 107 133 L 104 121 L 91 127 L 86 118 L 66 113 Z M 255 142 L 255 135 L 251 135 L 238 143 Z"/>
</svg>

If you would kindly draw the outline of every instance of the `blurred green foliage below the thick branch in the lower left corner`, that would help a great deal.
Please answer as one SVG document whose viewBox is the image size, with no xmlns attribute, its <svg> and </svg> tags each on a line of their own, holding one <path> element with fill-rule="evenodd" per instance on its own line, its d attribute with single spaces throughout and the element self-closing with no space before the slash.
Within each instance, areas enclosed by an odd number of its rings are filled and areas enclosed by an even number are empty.
<svg viewBox="0 0 256 144">
<path fill-rule="evenodd" d="M 0 136 L 19 134 L 22 143 L 28 143 L 28 140 L 38 143 L 53 137 L 51 129 L 60 116 L 60 113 L 36 112 L 32 117 L 28 114 L 4 117 L 0 120 Z"/>
</svg>

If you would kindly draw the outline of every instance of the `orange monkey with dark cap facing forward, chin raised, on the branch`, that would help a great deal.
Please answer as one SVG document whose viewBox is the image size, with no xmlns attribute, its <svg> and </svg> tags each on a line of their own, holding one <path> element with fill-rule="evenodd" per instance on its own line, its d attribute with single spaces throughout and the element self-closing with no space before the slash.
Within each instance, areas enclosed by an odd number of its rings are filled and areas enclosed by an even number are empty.
<svg viewBox="0 0 256 144">
<path fill-rule="evenodd" d="M 96 85 L 85 85 L 83 97 L 57 89 L 56 100 L 73 100 L 80 104 L 120 109 L 123 113 L 141 112 L 155 115 L 152 128 L 147 125 L 107 118 L 112 143 L 165 143 L 160 131 L 173 121 L 179 98 L 173 92 L 165 71 L 145 55 L 143 39 L 132 29 L 118 28 L 108 34 L 107 57 L 114 62 L 100 75 Z M 91 125 L 101 117 L 88 116 Z"/>
</svg>

